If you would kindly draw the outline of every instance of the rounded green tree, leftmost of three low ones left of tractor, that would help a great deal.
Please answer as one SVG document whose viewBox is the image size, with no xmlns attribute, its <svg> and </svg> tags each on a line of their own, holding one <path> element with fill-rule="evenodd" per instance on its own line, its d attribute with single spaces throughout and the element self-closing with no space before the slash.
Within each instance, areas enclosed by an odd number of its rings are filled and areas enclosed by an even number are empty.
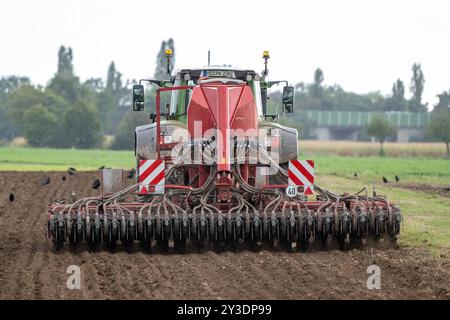
<svg viewBox="0 0 450 320">
<path fill-rule="evenodd" d="M 24 131 L 33 147 L 58 147 L 58 120 L 41 104 L 34 105 L 24 115 Z"/>
</svg>

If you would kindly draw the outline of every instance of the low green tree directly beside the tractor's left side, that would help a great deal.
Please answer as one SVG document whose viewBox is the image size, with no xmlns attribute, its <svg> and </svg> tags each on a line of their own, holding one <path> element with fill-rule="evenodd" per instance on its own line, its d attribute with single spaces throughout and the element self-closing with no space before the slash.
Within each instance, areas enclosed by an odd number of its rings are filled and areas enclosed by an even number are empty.
<svg viewBox="0 0 450 320">
<path fill-rule="evenodd" d="M 132 150 L 134 148 L 134 136 L 136 127 L 148 124 L 147 117 L 143 117 L 140 112 L 127 113 L 122 121 L 120 121 L 114 143 L 113 149 L 116 150 Z"/>
</svg>

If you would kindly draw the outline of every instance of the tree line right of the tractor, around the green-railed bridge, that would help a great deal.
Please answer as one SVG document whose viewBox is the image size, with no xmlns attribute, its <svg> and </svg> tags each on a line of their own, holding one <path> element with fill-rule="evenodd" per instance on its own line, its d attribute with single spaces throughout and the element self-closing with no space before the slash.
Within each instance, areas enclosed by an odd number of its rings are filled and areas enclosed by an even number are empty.
<svg viewBox="0 0 450 320">
<path fill-rule="evenodd" d="M 392 85 L 392 92 L 383 96 L 379 92 L 356 94 L 347 92 L 339 85 L 326 86 L 324 72 L 317 68 L 311 83 L 300 82 L 296 85 L 295 105 L 297 112 L 288 118 L 280 119 L 280 122 L 295 127 L 301 133 L 302 139 L 315 139 L 311 129 L 315 123 L 310 120 L 305 110 L 323 111 L 370 111 L 377 112 L 371 123 L 362 130 L 365 139 L 376 138 L 380 142 L 380 155 L 384 155 L 383 143 L 394 139 L 395 127 L 383 116 L 387 111 L 400 112 L 427 112 L 427 104 L 422 101 L 425 85 L 425 76 L 420 63 L 414 63 L 411 67 L 411 80 L 409 90 L 411 98 L 405 96 L 405 84 L 397 79 Z M 438 103 L 433 106 L 431 121 L 420 139 L 422 141 L 444 142 L 447 157 L 450 158 L 450 90 L 437 95 Z M 275 92 L 269 100 L 269 108 L 273 112 L 280 112 L 279 101 L 281 93 Z"/>
</svg>

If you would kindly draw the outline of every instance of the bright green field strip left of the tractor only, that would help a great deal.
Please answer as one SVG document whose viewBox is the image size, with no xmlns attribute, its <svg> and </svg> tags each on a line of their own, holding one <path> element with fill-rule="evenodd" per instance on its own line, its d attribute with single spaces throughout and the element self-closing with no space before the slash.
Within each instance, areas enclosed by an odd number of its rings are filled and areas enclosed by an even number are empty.
<svg viewBox="0 0 450 320">
<path fill-rule="evenodd" d="M 132 151 L 75 150 L 40 148 L 0 148 L 0 170 L 58 171 L 75 167 L 78 170 L 96 170 L 135 167 Z"/>
</svg>

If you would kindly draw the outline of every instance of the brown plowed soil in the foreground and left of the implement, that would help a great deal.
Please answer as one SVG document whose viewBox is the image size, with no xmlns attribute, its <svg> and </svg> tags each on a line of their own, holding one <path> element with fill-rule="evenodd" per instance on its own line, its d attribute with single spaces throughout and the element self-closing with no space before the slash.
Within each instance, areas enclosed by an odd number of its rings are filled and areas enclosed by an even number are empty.
<svg viewBox="0 0 450 320">
<path fill-rule="evenodd" d="M 70 199 L 72 191 L 95 195 L 91 184 L 96 176 L 0 173 L 0 298 L 450 298 L 450 261 L 411 247 L 308 253 L 54 253 L 46 238 L 47 203 Z M 42 186 L 47 177 L 50 184 Z M 372 264 L 381 268 L 380 290 L 366 287 L 366 270 Z M 80 290 L 66 287 L 69 265 L 81 268 Z"/>
</svg>

